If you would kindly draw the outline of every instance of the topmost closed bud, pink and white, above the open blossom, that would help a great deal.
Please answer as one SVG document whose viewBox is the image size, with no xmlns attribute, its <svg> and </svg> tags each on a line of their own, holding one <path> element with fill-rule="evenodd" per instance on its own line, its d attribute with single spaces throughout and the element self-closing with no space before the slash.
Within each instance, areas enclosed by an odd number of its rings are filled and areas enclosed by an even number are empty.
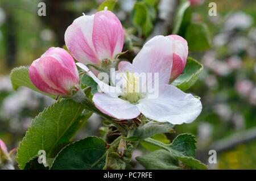
<svg viewBox="0 0 256 181">
<path fill-rule="evenodd" d="M 122 24 L 108 10 L 75 19 L 65 32 L 68 50 L 84 64 L 100 65 L 102 60 L 113 60 L 123 48 Z"/>
</svg>

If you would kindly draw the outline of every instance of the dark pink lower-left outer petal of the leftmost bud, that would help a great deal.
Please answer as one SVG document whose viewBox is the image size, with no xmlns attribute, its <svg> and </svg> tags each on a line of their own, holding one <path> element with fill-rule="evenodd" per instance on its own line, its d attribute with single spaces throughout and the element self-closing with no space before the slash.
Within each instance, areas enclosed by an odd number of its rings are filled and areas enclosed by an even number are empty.
<svg viewBox="0 0 256 181">
<path fill-rule="evenodd" d="M 40 91 L 46 92 L 48 94 L 52 95 L 65 95 L 66 92 L 64 90 L 56 90 L 52 87 L 48 86 L 46 82 L 42 79 L 41 75 L 38 73 L 38 70 L 36 70 L 36 67 L 34 64 L 30 66 L 30 69 L 28 71 L 30 75 L 31 82 L 38 88 Z"/>
</svg>

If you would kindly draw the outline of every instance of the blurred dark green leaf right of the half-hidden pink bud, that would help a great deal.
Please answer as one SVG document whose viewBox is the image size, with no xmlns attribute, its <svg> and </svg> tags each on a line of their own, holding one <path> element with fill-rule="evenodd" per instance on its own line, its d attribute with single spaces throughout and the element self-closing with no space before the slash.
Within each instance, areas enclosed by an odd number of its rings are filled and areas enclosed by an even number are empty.
<svg viewBox="0 0 256 181">
<path fill-rule="evenodd" d="M 211 47 L 209 30 L 204 23 L 191 23 L 185 33 L 190 51 L 205 51 Z"/>
</svg>

